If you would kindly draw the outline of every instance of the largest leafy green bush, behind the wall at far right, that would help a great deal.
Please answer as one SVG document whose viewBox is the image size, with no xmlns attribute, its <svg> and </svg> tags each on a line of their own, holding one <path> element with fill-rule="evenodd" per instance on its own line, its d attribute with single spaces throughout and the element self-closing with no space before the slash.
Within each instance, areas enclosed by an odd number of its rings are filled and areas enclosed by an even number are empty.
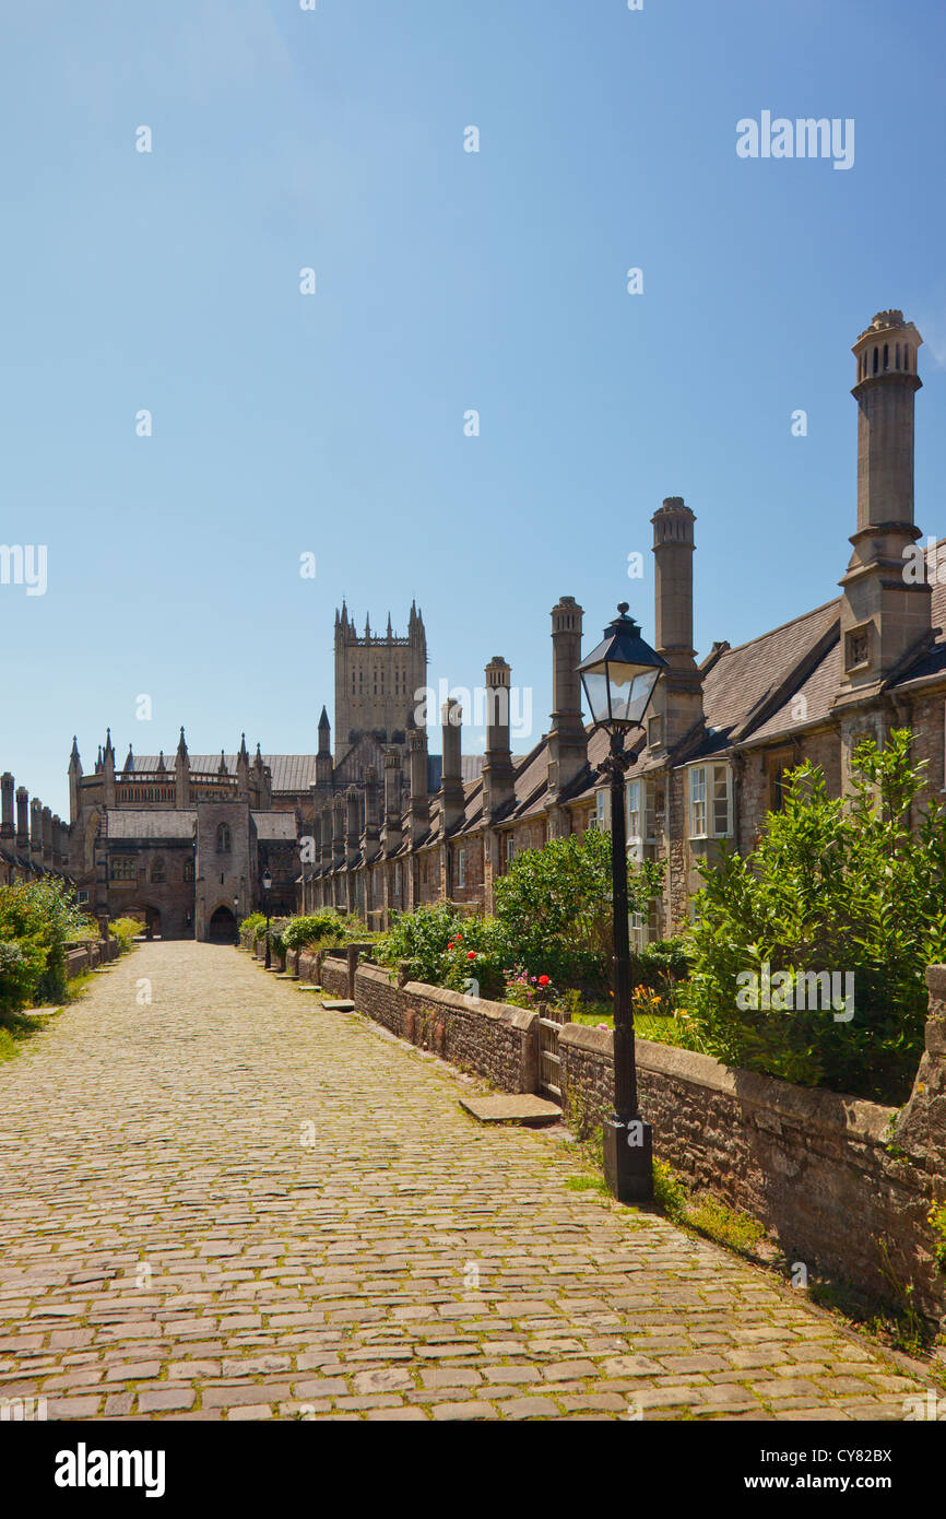
<svg viewBox="0 0 946 1519">
<path fill-rule="evenodd" d="M 928 797 L 916 832 L 910 826 L 923 769 L 910 761 L 907 731 L 884 750 L 873 740 L 858 746 L 846 801 L 829 797 L 823 772 L 806 763 L 752 855 L 700 866 L 686 998 L 721 1060 L 884 1101 L 907 1095 L 923 1050 L 925 971 L 946 951 L 938 801 Z M 790 972 L 779 989 L 802 971 L 850 974 L 853 1018 L 765 1009 L 762 996 L 741 1006 L 750 1001 L 744 972 L 762 981 L 765 965 L 771 978 Z"/>
</svg>

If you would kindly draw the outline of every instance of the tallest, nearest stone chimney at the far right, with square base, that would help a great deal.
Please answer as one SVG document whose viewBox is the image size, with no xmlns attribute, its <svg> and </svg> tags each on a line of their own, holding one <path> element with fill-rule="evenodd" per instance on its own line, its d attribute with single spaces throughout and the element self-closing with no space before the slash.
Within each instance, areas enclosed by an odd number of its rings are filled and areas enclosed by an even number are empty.
<svg viewBox="0 0 946 1519">
<path fill-rule="evenodd" d="M 916 545 L 914 398 L 923 339 L 902 311 L 878 311 L 853 345 L 858 403 L 858 526 L 840 585 L 838 702 L 879 687 L 931 633 L 931 585 Z"/>
</svg>

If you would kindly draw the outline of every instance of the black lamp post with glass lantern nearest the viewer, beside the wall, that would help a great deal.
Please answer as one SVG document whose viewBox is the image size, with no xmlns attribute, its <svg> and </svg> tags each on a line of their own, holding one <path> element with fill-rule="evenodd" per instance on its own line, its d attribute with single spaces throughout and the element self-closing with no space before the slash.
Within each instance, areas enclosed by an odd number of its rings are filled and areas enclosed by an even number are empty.
<svg viewBox="0 0 946 1519">
<path fill-rule="evenodd" d="M 654 687 L 667 661 L 641 638 L 627 602 L 604 629 L 604 641 L 579 665 L 595 728 L 610 735 L 598 773 L 610 781 L 610 870 L 613 911 L 613 1113 L 604 1120 L 604 1176 L 621 1203 L 653 1198 L 653 1132 L 638 1109 L 635 1028 L 630 1001 L 630 940 L 627 933 L 627 822 L 624 775 L 636 755 L 624 750 L 632 729 L 644 728 Z"/>
</svg>

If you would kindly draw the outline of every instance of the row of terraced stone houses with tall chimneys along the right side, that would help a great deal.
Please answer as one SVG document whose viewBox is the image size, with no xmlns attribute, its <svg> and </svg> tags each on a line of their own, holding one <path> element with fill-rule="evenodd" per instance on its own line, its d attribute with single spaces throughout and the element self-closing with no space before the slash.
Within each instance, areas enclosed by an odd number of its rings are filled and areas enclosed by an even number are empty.
<svg viewBox="0 0 946 1519">
<path fill-rule="evenodd" d="M 891 728 L 910 726 L 916 756 L 929 761 L 929 787 L 946 785 L 946 576 L 935 573 L 935 547 L 917 547 L 913 498 L 920 343 L 900 311 L 881 311 L 853 345 L 856 518 L 846 567 L 838 554 L 835 600 L 739 647 L 717 641 L 697 659 L 695 516 L 668 497 L 651 518 L 654 643 L 668 670 L 636 744 L 626 805 L 632 855 L 664 860 L 667 886 L 650 922 L 635 924 L 638 945 L 686 921 L 700 860 L 712 861 L 723 843 L 752 849 L 765 813 L 780 805 L 785 772 L 803 760 L 821 764 L 831 791 L 843 794 L 861 737 L 882 743 Z M 419 729 L 407 732 L 407 776 L 401 756 L 384 749 L 360 776 L 352 767 L 345 790 L 316 785 L 313 861 L 301 881 L 307 908 L 334 904 L 371 924 L 437 899 L 489 911 L 493 883 L 521 849 L 607 826 L 609 794 L 597 776 L 606 740 L 583 722 L 575 674 L 582 620 L 572 597 L 551 611 L 554 711 L 528 755 L 510 752 L 512 673 L 495 656 L 478 773 L 462 760 L 463 714 L 448 703 L 439 785 Z"/>
</svg>

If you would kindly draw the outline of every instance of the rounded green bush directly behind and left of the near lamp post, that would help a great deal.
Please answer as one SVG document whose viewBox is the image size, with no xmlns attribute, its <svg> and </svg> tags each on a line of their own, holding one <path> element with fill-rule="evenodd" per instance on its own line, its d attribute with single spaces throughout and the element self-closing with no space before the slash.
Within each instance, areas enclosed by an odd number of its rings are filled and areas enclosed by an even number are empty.
<svg viewBox="0 0 946 1519">
<path fill-rule="evenodd" d="M 629 863 L 630 911 L 647 911 L 662 883 L 662 864 Z M 562 984 L 606 983 L 613 952 L 610 832 L 591 828 L 516 855 L 497 881 L 495 914 L 510 965 Z"/>
</svg>

